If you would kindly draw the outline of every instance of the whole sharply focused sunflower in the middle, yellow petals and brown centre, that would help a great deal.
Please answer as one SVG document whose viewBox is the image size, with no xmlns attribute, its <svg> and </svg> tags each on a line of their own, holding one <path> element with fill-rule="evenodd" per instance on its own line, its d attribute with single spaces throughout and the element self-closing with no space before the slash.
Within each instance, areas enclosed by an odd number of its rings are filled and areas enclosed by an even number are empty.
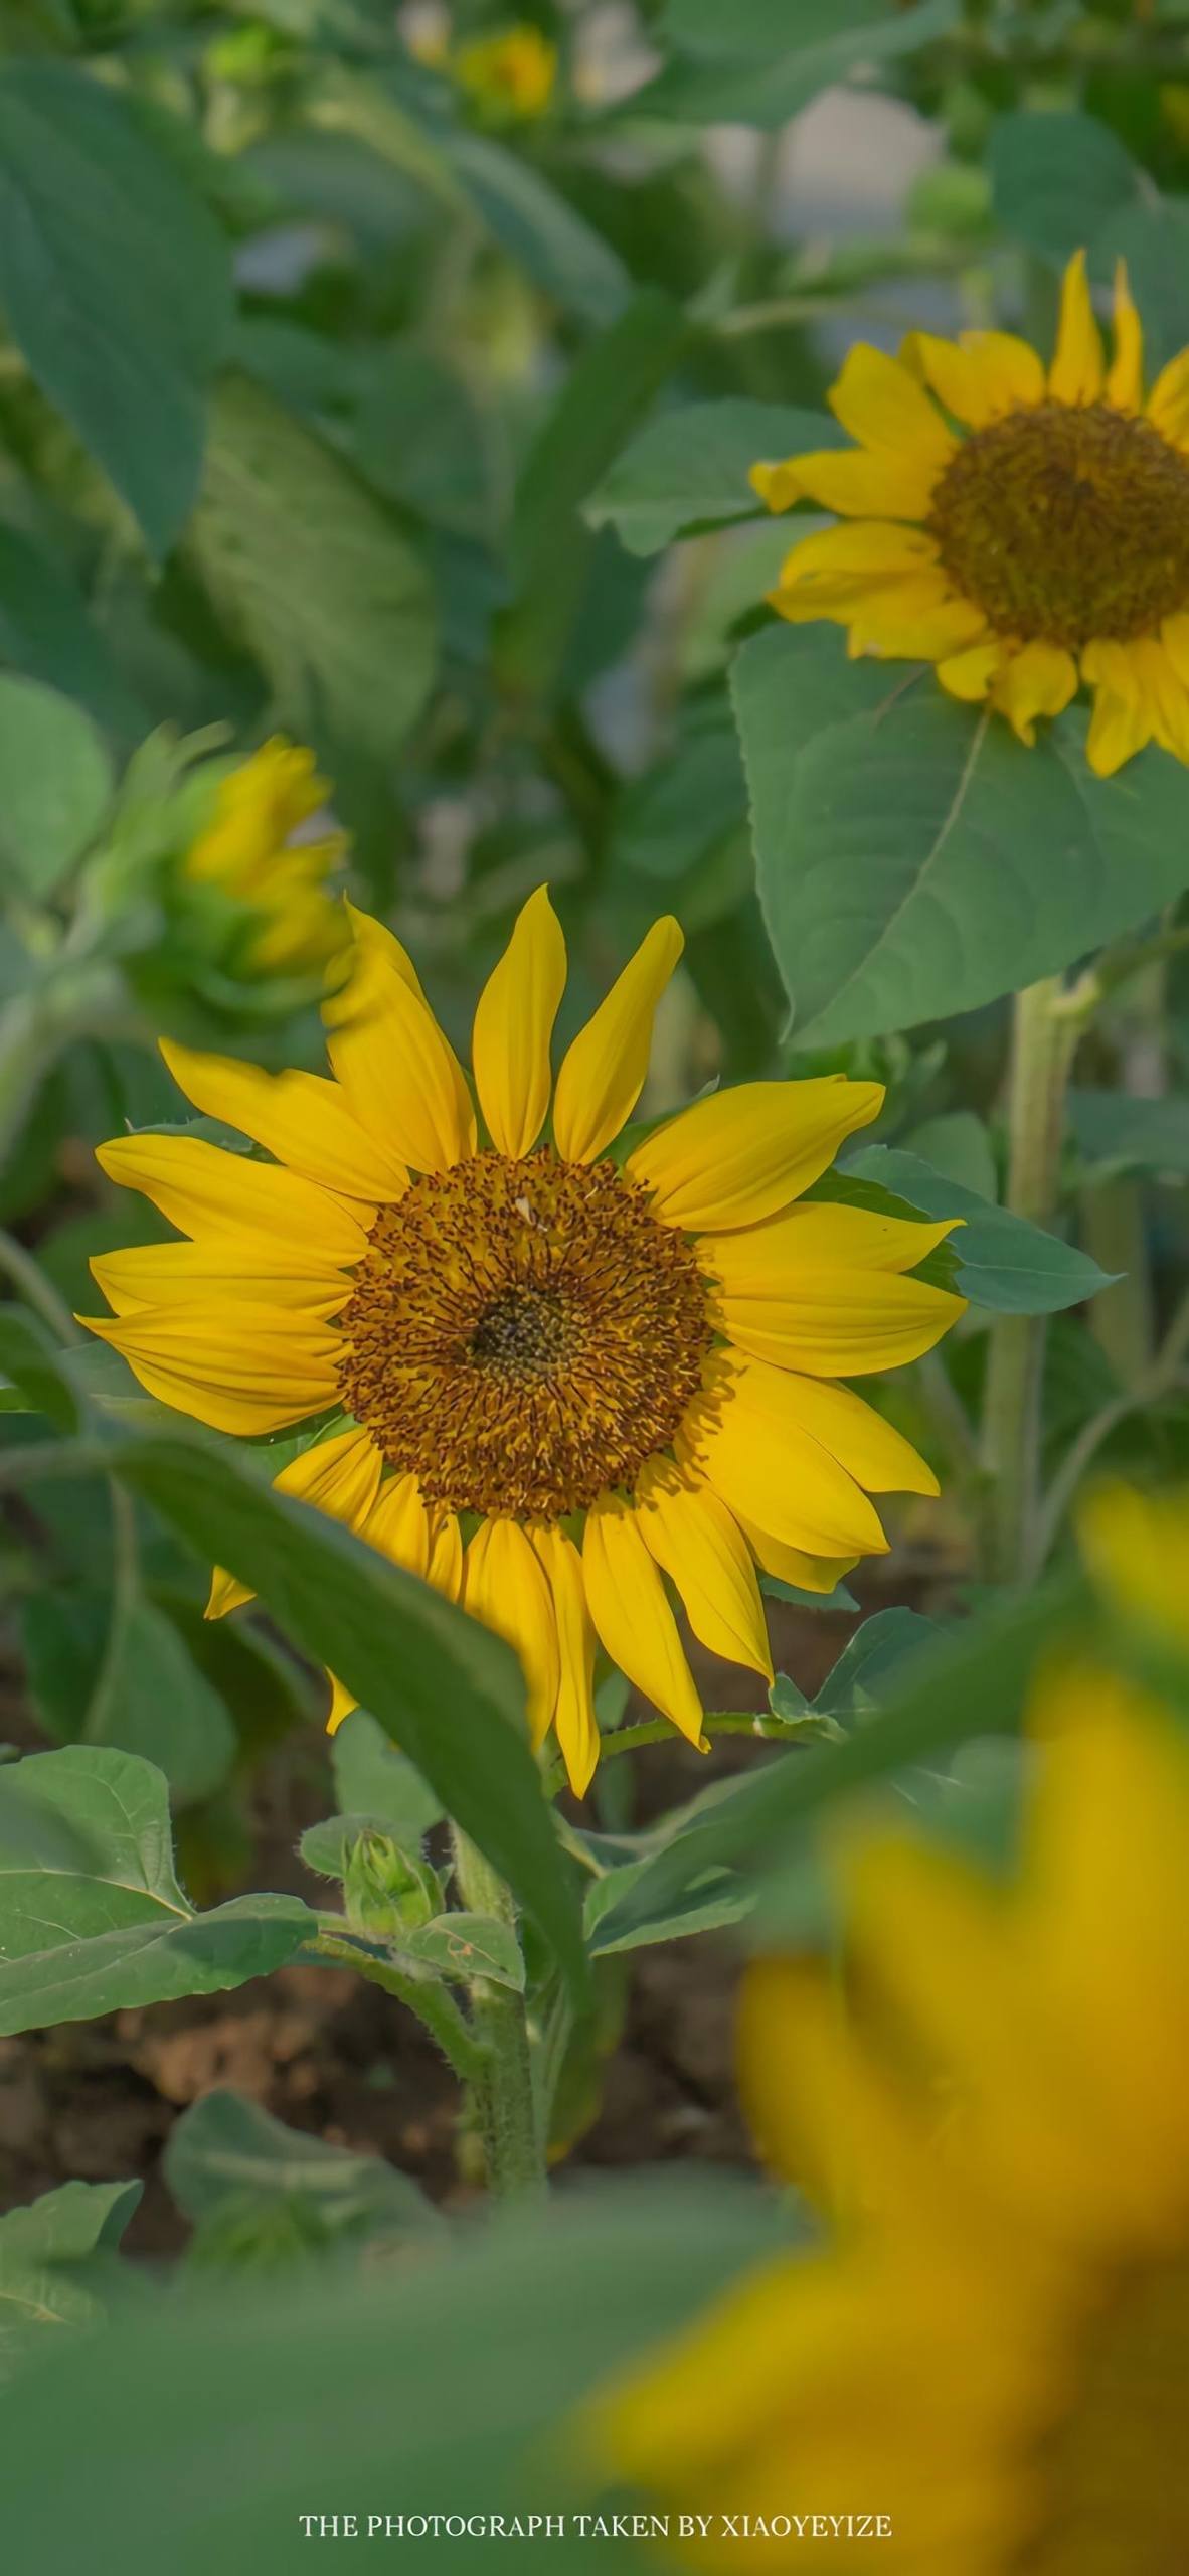
<svg viewBox="0 0 1189 2576">
<path fill-rule="evenodd" d="M 507 1636 L 535 1741 L 597 1762 L 594 1636 L 695 1744 L 667 1582 L 715 1654 L 772 1674 L 757 1564 L 829 1592 L 888 1546 L 870 1494 L 932 1471 L 842 1373 L 929 1350 L 963 1298 L 908 1278 L 947 1224 L 806 1203 L 875 1082 L 713 1092 L 620 1136 L 682 933 L 656 922 L 551 1082 L 566 948 L 540 886 L 474 1020 L 474 1084 L 381 922 L 327 1002 L 332 1079 L 165 1046 L 198 1136 L 100 1146 L 188 1242 L 93 1262 L 90 1321 L 165 1404 L 317 1437 L 275 1479 Z M 551 1123 L 548 1141 L 543 1136 Z M 219 1574 L 211 1615 L 247 1600 Z M 332 1723 L 353 1705 L 335 1692 Z"/>
</svg>

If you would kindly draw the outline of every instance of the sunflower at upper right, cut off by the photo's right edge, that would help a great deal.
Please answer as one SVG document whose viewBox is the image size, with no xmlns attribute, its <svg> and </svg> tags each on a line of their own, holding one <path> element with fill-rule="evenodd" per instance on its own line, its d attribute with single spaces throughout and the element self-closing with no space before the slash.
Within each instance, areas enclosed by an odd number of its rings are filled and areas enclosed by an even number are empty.
<svg viewBox="0 0 1189 2576">
<path fill-rule="evenodd" d="M 1083 680 L 1099 778 L 1153 739 L 1189 762 L 1189 350 L 1145 399 L 1122 263 L 1109 363 L 1078 250 L 1047 374 L 1009 332 L 911 332 L 898 358 L 852 348 L 829 399 L 857 448 L 751 469 L 770 510 L 844 520 L 793 549 L 772 608 L 934 662 L 1022 742 Z"/>
</svg>

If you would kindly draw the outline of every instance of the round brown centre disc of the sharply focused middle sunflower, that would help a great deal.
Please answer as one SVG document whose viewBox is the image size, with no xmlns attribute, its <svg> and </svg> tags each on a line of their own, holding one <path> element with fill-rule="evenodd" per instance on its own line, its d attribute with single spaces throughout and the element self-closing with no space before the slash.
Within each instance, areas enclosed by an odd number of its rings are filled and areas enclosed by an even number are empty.
<svg viewBox="0 0 1189 2576">
<path fill-rule="evenodd" d="M 381 1208 L 342 1399 L 453 1512 L 561 1520 L 631 1484 L 703 1383 L 705 1285 L 607 1162 L 474 1154 Z"/>
</svg>

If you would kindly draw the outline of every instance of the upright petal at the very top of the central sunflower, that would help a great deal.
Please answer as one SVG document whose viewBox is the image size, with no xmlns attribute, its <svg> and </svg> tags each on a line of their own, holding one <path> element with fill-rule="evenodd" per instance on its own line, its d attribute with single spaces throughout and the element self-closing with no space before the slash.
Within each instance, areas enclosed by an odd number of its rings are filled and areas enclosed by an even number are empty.
<svg viewBox="0 0 1189 2576">
<path fill-rule="evenodd" d="M 548 1041 L 566 989 L 566 940 L 548 886 L 528 896 L 474 1015 L 474 1077 L 492 1144 L 517 1162 L 548 1110 Z"/>
</svg>

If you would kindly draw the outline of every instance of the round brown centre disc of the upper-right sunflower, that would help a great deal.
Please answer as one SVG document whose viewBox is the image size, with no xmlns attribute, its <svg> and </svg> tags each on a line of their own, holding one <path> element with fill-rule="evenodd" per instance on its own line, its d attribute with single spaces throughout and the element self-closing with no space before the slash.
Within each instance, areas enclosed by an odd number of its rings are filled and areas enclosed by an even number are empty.
<svg viewBox="0 0 1189 2576">
<path fill-rule="evenodd" d="M 1027 644 L 1127 641 L 1189 605 L 1189 461 L 1104 402 L 975 430 L 926 526 L 963 598 Z"/>
</svg>

